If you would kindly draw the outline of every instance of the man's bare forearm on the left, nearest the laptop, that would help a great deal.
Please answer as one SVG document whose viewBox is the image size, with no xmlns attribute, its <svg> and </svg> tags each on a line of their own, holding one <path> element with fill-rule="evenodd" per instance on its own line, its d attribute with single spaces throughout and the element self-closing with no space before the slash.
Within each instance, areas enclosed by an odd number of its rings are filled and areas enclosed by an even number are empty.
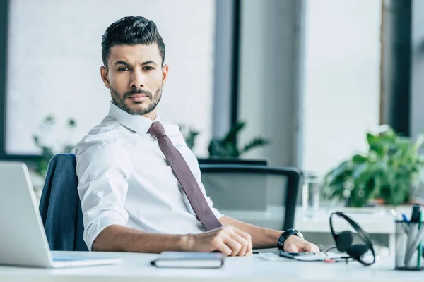
<svg viewBox="0 0 424 282">
<path fill-rule="evenodd" d="M 147 233 L 134 228 L 107 226 L 95 238 L 94 251 L 104 252 L 152 252 L 187 251 L 189 235 Z"/>
</svg>

